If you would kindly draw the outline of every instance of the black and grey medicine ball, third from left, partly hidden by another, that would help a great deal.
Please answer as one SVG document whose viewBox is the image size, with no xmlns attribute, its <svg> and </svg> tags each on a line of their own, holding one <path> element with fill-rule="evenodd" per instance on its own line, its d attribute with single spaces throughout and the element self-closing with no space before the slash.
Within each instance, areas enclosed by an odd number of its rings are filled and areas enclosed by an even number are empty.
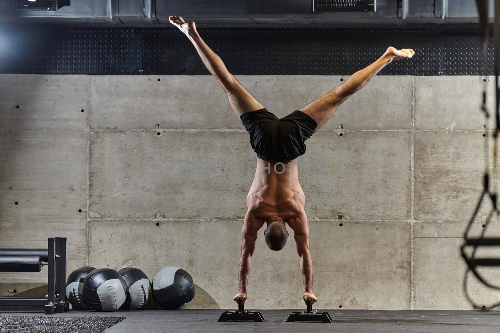
<svg viewBox="0 0 500 333">
<path fill-rule="evenodd" d="M 151 282 L 146 274 L 142 270 L 132 267 L 121 268 L 118 273 L 125 280 L 128 289 L 125 302 L 121 305 L 120 310 L 138 310 L 144 307 L 151 291 Z"/>
</svg>

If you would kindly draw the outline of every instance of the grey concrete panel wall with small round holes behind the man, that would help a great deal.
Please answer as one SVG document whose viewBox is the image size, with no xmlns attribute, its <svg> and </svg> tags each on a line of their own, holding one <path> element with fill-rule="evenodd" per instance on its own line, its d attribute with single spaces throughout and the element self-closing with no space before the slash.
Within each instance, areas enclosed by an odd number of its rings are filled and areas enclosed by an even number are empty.
<svg viewBox="0 0 500 333">
<path fill-rule="evenodd" d="M 278 116 L 345 78 L 237 76 Z M 491 128 L 481 83 L 376 76 L 306 142 L 318 306 L 470 308 L 459 246 Z M 213 77 L 3 74 L 0 128 L 0 247 L 66 236 L 68 272 L 136 266 L 152 278 L 176 265 L 196 284 L 189 307 L 234 307 L 255 156 Z M 45 276 L 0 273 L 0 294 L 43 293 Z M 469 289 L 484 304 L 500 297 L 473 279 Z M 273 252 L 259 234 L 248 292 L 250 307 L 302 307 L 293 242 Z"/>
</svg>

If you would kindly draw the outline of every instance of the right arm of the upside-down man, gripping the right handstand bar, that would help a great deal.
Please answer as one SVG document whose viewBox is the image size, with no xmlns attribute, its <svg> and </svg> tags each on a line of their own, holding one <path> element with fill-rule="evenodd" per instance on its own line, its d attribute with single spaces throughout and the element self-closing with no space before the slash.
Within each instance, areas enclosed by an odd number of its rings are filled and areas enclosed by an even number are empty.
<svg viewBox="0 0 500 333">
<path fill-rule="evenodd" d="M 303 299 L 304 302 L 307 302 L 307 298 L 310 298 L 311 304 L 313 304 L 317 298 L 312 292 L 312 259 L 309 252 L 309 226 L 305 213 L 301 214 L 293 224 L 295 247 L 300 258 L 300 271 L 304 283 Z"/>
</svg>

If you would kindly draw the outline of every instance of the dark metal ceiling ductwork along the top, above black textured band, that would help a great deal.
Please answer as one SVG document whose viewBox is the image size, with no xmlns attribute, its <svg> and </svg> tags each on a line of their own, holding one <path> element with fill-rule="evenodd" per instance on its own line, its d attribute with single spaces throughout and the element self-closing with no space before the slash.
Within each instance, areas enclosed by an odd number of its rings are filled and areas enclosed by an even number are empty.
<svg viewBox="0 0 500 333">
<path fill-rule="evenodd" d="M 52 2 L 36 3 L 43 1 Z M 343 3 L 347 0 L 320 1 Z M 24 2 L 28 0 L 0 0 L 0 8 L 2 3 L 11 6 Z M 492 8 L 493 1 L 489 3 Z M 404 27 L 467 24 L 478 16 L 475 0 L 376 0 L 374 12 L 313 12 L 312 4 L 313 0 L 57 0 L 57 11 L 0 10 L 0 18 L 9 24 L 26 24 L 36 18 L 36 22 L 87 26 L 169 26 L 167 17 L 180 15 L 197 19 L 204 27 Z M 400 14 L 405 4 L 406 16 Z M 145 16 L 150 17 L 144 17 L 144 7 L 147 8 Z M 453 19 L 443 19 L 447 17 Z"/>
</svg>

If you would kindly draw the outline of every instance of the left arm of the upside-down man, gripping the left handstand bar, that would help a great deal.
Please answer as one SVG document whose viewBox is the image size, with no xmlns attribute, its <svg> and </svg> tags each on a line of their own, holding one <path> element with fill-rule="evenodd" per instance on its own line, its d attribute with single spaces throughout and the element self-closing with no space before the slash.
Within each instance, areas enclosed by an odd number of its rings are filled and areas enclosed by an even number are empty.
<svg viewBox="0 0 500 333">
<path fill-rule="evenodd" d="M 245 215 L 243 229 L 241 230 L 241 256 L 238 265 L 238 293 L 233 297 L 237 302 L 238 298 L 243 299 L 245 303 L 247 294 L 246 286 L 248 284 L 248 275 L 251 268 L 251 256 L 255 250 L 255 243 L 257 241 L 257 231 L 264 224 L 264 221 L 252 216 L 249 212 Z"/>
</svg>

